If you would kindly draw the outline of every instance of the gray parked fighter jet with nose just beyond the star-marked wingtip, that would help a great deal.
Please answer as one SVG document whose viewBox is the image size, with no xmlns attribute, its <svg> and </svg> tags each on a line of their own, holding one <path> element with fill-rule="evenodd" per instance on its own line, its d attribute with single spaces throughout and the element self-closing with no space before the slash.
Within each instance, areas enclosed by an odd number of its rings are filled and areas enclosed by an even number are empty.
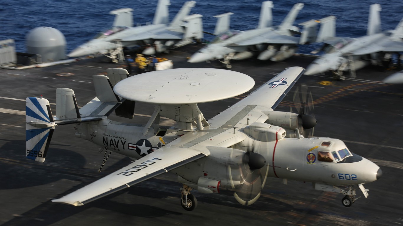
<svg viewBox="0 0 403 226">
<path fill-rule="evenodd" d="M 350 70 L 351 76 L 355 77 L 355 70 L 369 64 L 388 66 L 391 55 L 403 51 L 403 19 L 395 30 L 382 32 L 380 10 L 379 4 L 370 6 L 366 36 L 336 38 L 326 31 L 320 31 L 318 41 L 325 43 L 321 49 L 324 54 L 307 67 L 305 74 L 312 75 L 330 70 L 337 78 L 344 79 L 343 71 Z M 327 37 L 320 37 L 321 35 Z"/>
</svg>

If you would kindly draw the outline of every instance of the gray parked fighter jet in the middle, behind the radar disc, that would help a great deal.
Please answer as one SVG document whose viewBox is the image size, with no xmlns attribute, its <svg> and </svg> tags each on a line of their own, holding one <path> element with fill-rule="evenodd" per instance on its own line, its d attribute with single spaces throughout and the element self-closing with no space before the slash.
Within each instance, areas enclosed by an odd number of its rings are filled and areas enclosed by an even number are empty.
<svg viewBox="0 0 403 226">
<path fill-rule="evenodd" d="M 316 24 L 314 20 L 303 23 L 304 30 L 299 32 L 298 27 L 293 26 L 302 3 L 295 4 L 281 25 L 273 27 L 272 9 L 273 3 L 262 3 L 260 20 L 257 29 L 238 31 L 229 29 L 229 17 L 233 13 L 225 13 L 218 17 L 214 35 L 216 39 L 206 47 L 193 54 L 188 62 L 197 63 L 214 59 L 226 58 L 244 60 L 258 55 L 259 60 L 282 61 L 293 55 L 297 44 L 304 44 L 316 39 Z M 301 35 L 295 37 L 294 35 Z"/>
</svg>

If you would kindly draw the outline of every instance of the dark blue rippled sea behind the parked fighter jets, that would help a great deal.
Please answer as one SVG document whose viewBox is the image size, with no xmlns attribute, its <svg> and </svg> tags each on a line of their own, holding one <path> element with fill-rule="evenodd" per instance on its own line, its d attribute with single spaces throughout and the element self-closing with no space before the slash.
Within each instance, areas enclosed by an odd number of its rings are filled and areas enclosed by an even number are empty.
<svg viewBox="0 0 403 226">
<path fill-rule="evenodd" d="M 171 19 L 185 0 L 171 0 Z M 382 7 L 382 29 L 394 29 L 403 16 L 403 0 L 273 0 L 273 21 L 283 21 L 293 4 L 302 2 L 296 23 L 325 16 L 337 16 L 336 34 L 339 37 L 366 35 L 370 4 Z M 15 39 L 16 51 L 26 51 L 25 36 L 35 27 L 53 27 L 66 37 L 67 52 L 91 39 L 96 33 L 112 25 L 118 8 L 133 8 L 134 24 L 151 22 L 157 0 L 1 0 L 0 40 Z M 204 0 L 198 1 L 192 13 L 202 14 L 205 31 L 213 32 L 214 15 L 234 12 L 231 29 L 248 30 L 257 26 L 261 0 Z M 212 37 L 206 36 L 206 39 Z"/>
</svg>

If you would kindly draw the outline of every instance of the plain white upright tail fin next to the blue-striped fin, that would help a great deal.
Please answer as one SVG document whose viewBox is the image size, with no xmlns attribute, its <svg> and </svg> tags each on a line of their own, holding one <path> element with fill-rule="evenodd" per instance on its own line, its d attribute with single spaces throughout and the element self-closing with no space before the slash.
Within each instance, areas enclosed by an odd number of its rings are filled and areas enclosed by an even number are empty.
<svg viewBox="0 0 403 226">
<path fill-rule="evenodd" d="M 56 117 L 58 119 L 81 121 L 74 90 L 70 88 L 56 89 Z"/>
</svg>

